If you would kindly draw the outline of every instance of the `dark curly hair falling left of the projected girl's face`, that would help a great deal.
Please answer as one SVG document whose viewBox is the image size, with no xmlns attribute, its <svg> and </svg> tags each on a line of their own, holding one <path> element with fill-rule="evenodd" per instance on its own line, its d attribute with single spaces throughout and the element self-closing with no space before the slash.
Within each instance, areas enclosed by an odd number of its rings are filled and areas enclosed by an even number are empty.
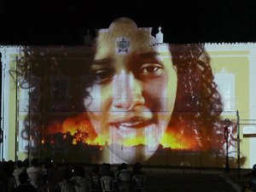
<svg viewBox="0 0 256 192">
<path fill-rule="evenodd" d="M 46 48 L 24 46 L 20 49 L 20 55 L 17 57 L 17 69 L 9 71 L 14 79 L 17 77 L 20 88 L 28 90 L 28 114 L 24 120 L 21 137 L 26 140 L 29 140 L 29 137 L 32 138 L 34 142 L 32 150 L 34 151 L 40 148 L 42 137 L 44 137 L 44 128 L 56 120 L 51 115 L 47 117 L 49 121 L 45 120 L 45 112 L 49 110 L 49 77 L 55 74 L 67 75 L 72 77 L 73 84 L 79 84 L 77 77 L 88 71 L 90 65 L 87 63 L 91 62 L 90 55 L 92 55 L 90 54 L 91 48 L 83 48 L 82 50 L 86 49 L 83 53 L 71 54 L 65 46 L 47 46 Z M 70 61 L 73 61 L 73 65 L 76 67 L 70 66 Z M 89 83 L 86 82 L 86 84 Z M 56 106 L 53 111 L 66 111 L 72 113 L 73 116 L 84 111 L 81 107 L 83 101 L 78 102 L 79 92 L 75 89 L 77 87 L 73 87 L 73 98 L 67 98 L 67 100 L 71 100 L 67 108 Z M 85 90 L 84 95 L 87 95 Z M 57 118 L 58 121 L 67 119 L 70 113 L 61 114 Z"/>
</svg>

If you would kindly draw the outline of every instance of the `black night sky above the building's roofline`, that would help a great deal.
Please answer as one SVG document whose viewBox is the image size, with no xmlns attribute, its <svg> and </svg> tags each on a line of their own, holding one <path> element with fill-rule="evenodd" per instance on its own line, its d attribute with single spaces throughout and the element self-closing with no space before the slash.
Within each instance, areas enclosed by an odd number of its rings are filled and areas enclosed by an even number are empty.
<svg viewBox="0 0 256 192">
<path fill-rule="evenodd" d="M 1 0 L 0 44 L 81 44 L 87 29 L 126 16 L 166 43 L 256 41 L 255 0 Z"/>
</svg>

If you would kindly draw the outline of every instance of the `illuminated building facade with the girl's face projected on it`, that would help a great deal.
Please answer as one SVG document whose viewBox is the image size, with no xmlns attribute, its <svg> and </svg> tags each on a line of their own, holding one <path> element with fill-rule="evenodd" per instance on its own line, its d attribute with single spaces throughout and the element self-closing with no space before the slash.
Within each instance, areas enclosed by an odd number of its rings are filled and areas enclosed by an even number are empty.
<svg viewBox="0 0 256 192">
<path fill-rule="evenodd" d="M 90 46 L 3 48 L 5 157 L 223 167 L 228 144 L 252 167 L 256 44 L 157 40 L 119 19 Z"/>
</svg>

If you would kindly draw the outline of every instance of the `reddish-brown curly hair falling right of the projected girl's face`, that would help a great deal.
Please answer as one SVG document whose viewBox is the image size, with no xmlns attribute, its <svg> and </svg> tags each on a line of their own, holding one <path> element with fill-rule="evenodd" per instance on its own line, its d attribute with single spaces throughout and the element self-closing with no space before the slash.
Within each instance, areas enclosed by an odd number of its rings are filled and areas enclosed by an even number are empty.
<svg viewBox="0 0 256 192">
<path fill-rule="evenodd" d="M 224 139 L 220 114 L 223 104 L 204 44 L 172 44 L 170 51 L 173 65 L 177 67 L 177 99 L 170 122 L 172 130 L 192 138 L 195 149 L 222 151 Z"/>
</svg>

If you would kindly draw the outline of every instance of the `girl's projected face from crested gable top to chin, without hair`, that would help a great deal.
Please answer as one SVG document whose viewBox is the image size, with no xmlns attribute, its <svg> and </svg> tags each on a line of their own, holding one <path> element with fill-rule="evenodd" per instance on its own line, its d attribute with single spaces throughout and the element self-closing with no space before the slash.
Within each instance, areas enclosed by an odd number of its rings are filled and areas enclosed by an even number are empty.
<svg viewBox="0 0 256 192">
<path fill-rule="evenodd" d="M 150 46 L 151 39 L 148 29 L 131 20 L 116 21 L 97 38 L 90 68 L 94 83 L 87 88 L 84 107 L 96 139 L 119 162 L 154 154 L 172 116 L 177 73 L 170 52 L 165 59 Z"/>
</svg>

